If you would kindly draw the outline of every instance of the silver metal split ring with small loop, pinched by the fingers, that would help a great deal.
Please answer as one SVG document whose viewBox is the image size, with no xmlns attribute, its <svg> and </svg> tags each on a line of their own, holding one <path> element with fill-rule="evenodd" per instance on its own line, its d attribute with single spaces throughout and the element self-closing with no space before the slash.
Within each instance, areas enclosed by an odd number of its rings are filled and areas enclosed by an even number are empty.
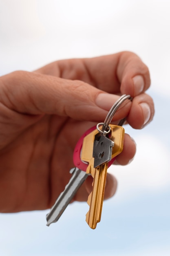
<svg viewBox="0 0 170 256">
<path fill-rule="evenodd" d="M 109 124 L 111 123 L 113 116 L 115 115 L 115 112 L 117 111 L 117 109 L 121 106 L 121 104 L 126 100 L 126 99 L 132 99 L 130 95 L 122 95 L 112 106 L 112 108 L 110 109 L 110 111 L 108 112 L 108 115 L 106 116 L 106 119 L 104 120 L 104 123 L 99 123 L 97 124 L 96 128 L 97 130 L 102 133 L 103 135 L 106 136 L 106 134 L 108 134 L 110 132 L 110 126 Z M 124 124 L 124 121 L 126 120 L 126 118 L 121 119 L 119 121 L 119 126 L 122 126 Z M 100 130 L 99 126 L 102 125 L 102 130 Z"/>
</svg>

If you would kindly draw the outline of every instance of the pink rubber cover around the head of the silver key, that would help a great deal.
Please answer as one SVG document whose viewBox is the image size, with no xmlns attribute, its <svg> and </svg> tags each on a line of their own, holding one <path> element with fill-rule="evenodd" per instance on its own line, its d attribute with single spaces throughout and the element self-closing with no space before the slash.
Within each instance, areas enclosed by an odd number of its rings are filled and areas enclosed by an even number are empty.
<svg viewBox="0 0 170 256">
<path fill-rule="evenodd" d="M 81 154 L 81 150 L 82 150 L 82 145 L 83 145 L 83 139 L 84 137 L 86 137 L 86 135 L 88 135 L 89 133 L 93 132 L 93 130 L 96 129 L 96 126 L 93 126 L 92 128 L 88 129 L 83 135 L 82 137 L 80 137 L 79 141 L 77 142 L 75 149 L 74 149 L 74 153 L 73 153 L 73 162 L 74 165 L 81 169 L 82 171 L 86 171 L 86 168 L 88 166 L 88 163 L 82 162 L 81 158 L 80 158 L 80 154 Z M 115 158 L 111 159 L 110 162 L 108 162 L 108 167 L 110 167 L 110 165 L 113 164 Z"/>
</svg>

